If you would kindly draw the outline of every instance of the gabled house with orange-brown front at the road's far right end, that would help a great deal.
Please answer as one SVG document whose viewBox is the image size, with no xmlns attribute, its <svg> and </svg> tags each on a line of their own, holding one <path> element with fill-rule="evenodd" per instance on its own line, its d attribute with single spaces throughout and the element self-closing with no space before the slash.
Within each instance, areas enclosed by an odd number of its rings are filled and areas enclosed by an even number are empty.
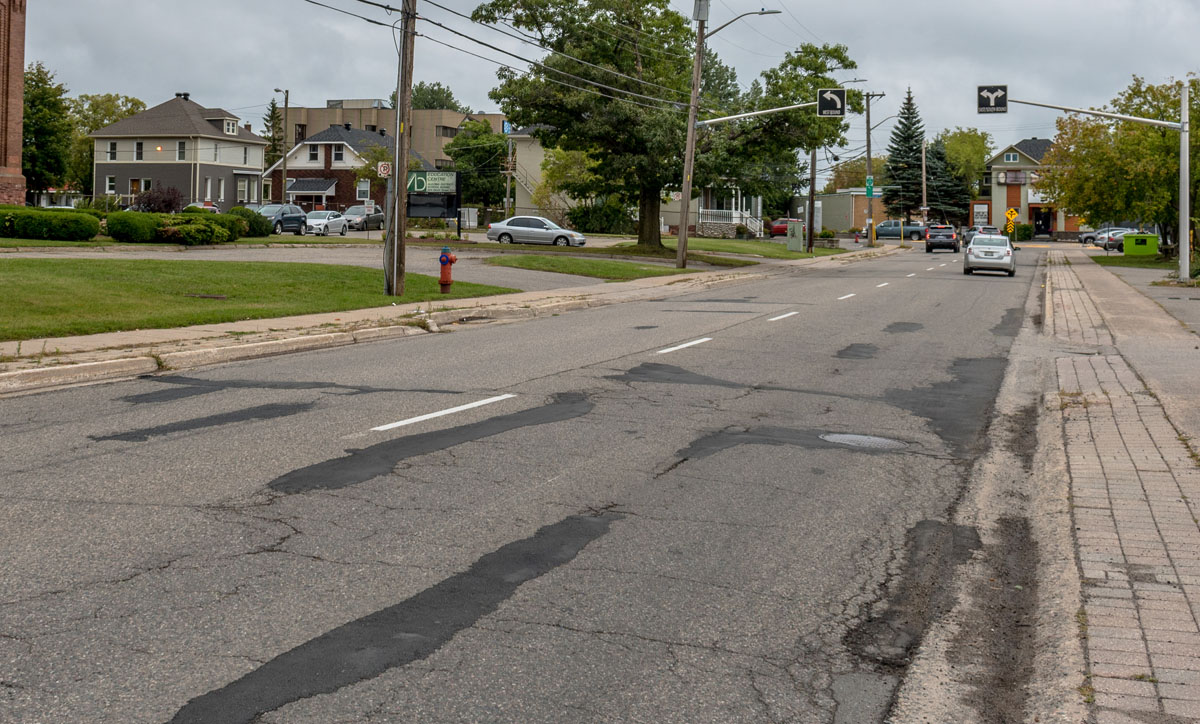
<svg viewBox="0 0 1200 724">
<path fill-rule="evenodd" d="M 1056 208 L 1037 187 L 1042 158 L 1052 145 L 1048 138 L 1026 138 L 992 156 L 984 173 L 984 193 L 971 204 L 972 223 L 1003 227 L 1004 214 L 1016 209 L 1016 223 L 1032 223 L 1033 235 L 1073 238 L 1079 216 Z"/>
</svg>

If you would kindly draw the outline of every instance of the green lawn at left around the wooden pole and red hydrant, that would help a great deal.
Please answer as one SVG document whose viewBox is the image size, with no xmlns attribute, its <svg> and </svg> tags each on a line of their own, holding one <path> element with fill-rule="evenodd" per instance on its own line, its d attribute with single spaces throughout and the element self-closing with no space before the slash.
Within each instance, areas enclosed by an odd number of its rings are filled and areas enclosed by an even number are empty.
<svg viewBox="0 0 1200 724">
<path fill-rule="evenodd" d="M 0 257 L 0 340 L 163 329 L 336 312 L 391 303 L 516 292 L 455 282 L 438 292 L 409 274 L 404 297 L 383 293 L 383 273 L 286 262 L 5 259 Z"/>
</svg>

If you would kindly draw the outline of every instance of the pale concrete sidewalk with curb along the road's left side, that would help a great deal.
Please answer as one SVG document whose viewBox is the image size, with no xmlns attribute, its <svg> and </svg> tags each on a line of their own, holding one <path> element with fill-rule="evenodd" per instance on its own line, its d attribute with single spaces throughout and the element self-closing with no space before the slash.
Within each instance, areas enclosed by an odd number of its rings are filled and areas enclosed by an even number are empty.
<svg viewBox="0 0 1200 724">
<path fill-rule="evenodd" d="M 836 256 L 772 261 L 733 270 L 590 283 L 440 304 L 433 300 L 175 329 L 0 342 L 0 394 L 420 335 L 438 331 L 448 324 L 528 319 L 576 309 L 676 297 L 714 286 L 788 274 L 798 267 L 853 263 L 894 253 L 898 249 L 863 249 Z"/>
</svg>

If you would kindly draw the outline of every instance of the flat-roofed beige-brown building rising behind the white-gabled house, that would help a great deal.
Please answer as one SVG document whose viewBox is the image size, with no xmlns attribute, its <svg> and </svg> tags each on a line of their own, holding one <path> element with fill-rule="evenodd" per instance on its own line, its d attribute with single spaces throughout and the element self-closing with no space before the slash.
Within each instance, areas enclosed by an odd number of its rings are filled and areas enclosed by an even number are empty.
<svg viewBox="0 0 1200 724">
<path fill-rule="evenodd" d="M 282 109 L 281 109 L 282 110 Z M 503 113 L 458 113 L 457 110 L 413 110 L 413 121 L 408 130 L 413 151 L 427 158 L 437 168 L 450 168 L 454 162 L 443 150 L 458 134 L 458 127 L 466 120 L 486 120 L 497 133 L 503 132 Z M 334 126 L 378 132 L 384 130 L 388 136 L 396 133 L 396 109 L 388 107 L 382 98 L 346 98 L 325 101 L 324 108 L 288 108 L 283 122 L 287 133 L 287 148 L 295 148 L 310 136 L 320 133 Z"/>
</svg>

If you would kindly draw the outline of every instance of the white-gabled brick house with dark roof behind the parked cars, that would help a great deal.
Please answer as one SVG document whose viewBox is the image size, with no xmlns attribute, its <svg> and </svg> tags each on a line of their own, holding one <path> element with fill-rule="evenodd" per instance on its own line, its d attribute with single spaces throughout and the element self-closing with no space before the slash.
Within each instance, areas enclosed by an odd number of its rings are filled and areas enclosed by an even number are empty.
<svg viewBox="0 0 1200 724">
<path fill-rule="evenodd" d="M 359 181 L 355 169 L 366 163 L 364 155 L 371 146 L 395 152 L 395 138 L 385 130 L 365 131 L 350 124 L 330 126 L 306 137 L 287 154 L 288 202 L 306 211 L 330 209 L 344 211 L 348 207 L 372 199 L 384 205 L 386 190 L 371 189 L 370 181 Z M 431 164 L 422 166 L 432 168 Z M 282 158 L 263 173 L 263 198 L 277 201 Z"/>
</svg>

